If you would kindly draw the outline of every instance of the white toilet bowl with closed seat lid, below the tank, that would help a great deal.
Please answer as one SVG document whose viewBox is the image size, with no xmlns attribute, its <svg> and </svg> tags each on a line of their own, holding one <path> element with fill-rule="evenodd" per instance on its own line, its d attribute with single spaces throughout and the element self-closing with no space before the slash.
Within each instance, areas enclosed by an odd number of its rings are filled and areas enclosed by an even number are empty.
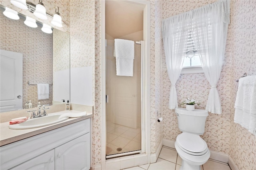
<svg viewBox="0 0 256 170">
<path fill-rule="evenodd" d="M 210 150 L 206 142 L 195 134 L 185 132 L 179 134 L 175 148 L 182 159 L 180 170 L 201 170 L 200 166 L 210 158 Z"/>
</svg>

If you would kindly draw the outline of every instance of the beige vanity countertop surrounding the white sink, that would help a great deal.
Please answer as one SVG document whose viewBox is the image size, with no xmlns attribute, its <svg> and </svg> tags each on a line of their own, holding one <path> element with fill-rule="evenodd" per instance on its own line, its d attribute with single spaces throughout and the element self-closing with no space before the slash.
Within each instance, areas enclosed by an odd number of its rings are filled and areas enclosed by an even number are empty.
<svg viewBox="0 0 256 170">
<path fill-rule="evenodd" d="M 63 113 L 63 111 L 61 111 Z M 80 113 L 80 111 L 76 110 L 70 110 L 66 111 L 67 112 L 72 112 L 72 113 Z M 55 112 L 59 113 L 59 112 Z M 12 142 L 16 142 L 18 140 L 22 140 L 25 138 L 29 138 L 31 136 L 35 136 L 44 132 L 48 132 L 50 130 L 54 130 L 75 122 L 79 122 L 81 120 L 85 120 L 88 118 L 91 118 L 93 115 L 92 113 L 86 113 L 85 117 L 80 117 L 80 118 L 69 118 L 67 120 L 64 120 L 62 122 L 48 125 L 48 126 L 43 126 L 39 128 L 32 128 L 32 129 L 23 129 L 23 130 L 12 130 L 9 129 L 9 122 L 3 122 L 0 124 L 0 146 L 4 146 L 6 144 L 10 144 Z"/>
</svg>

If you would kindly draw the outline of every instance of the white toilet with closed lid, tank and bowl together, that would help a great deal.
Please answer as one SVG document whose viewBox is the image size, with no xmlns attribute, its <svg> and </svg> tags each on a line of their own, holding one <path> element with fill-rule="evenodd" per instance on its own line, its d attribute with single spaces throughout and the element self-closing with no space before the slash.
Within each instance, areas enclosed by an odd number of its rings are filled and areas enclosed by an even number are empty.
<svg viewBox="0 0 256 170">
<path fill-rule="evenodd" d="M 205 121 L 209 115 L 206 110 L 176 108 L 178 126 L 181 134 L 175 141 L 175 148 L 182 165 L 180 170 L 201 170 L 201 165 L 210 158 L 210 150 L 206 142 L 199 136 L 204 134 Z"/>
</svg>

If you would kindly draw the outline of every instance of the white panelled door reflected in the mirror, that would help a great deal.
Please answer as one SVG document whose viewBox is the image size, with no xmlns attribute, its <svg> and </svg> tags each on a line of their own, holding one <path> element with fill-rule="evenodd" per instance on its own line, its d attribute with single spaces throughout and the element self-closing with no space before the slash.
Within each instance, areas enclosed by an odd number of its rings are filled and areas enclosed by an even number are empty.
<svg viewBox="0 0 256 170">
<path fill-rule="evenodd" d="M 23 54 L 0 50 L 0 112 L 22 109 Z"/>
</svg>

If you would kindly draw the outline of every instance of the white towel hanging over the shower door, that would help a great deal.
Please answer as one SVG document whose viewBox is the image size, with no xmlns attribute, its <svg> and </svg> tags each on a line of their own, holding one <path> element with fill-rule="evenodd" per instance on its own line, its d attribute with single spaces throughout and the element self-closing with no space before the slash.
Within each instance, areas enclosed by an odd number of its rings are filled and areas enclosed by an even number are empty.
<svg viewBox="0 0 256 170">
<path fill-rule="evenodd" d="M 116 75 L 133 76 L 134 41 L 115 39 Z"/>
</svg>

